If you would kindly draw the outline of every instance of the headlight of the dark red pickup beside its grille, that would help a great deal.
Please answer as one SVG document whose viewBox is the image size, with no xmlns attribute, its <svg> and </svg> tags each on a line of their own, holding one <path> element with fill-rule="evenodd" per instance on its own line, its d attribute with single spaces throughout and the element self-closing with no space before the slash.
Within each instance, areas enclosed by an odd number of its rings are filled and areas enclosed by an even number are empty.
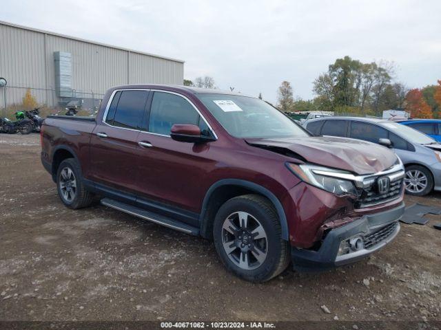
<svg viewBox="0 0 441 330">
<path fill-rule="evenodd" d="M 335 170 L 334 168 L 327 168 L 323 166 L 316 166 L 311 164 L 291 164 L 287 163 L 289 170 L 297 175 L 299 179 L 305 181 L 307 184 L 316 186 L 320 189 L 332 192 L 335 195 L 353 195 L 357 197 L 356 186 L 350 180 L 340 179 L 336 175 L 351 175 L 351 173 L 343 170 Z M 331 172 L 334 175 L 320 175 L 318 173 Z"/>
</svg>

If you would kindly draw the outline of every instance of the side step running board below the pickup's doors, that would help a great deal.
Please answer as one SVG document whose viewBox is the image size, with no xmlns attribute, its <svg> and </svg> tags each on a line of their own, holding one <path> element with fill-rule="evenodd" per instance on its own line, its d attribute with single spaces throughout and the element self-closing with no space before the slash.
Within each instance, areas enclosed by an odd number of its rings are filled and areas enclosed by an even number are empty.
<svg viewBox="0 0 441 330">
<path fill-rule="evenodd" d="M 110 198 L 103 198 L 101 199 L 101 204 L 103 204 L 104 206 L 108 206 L 109 208 L 114 208 L 115 210 L 125 212 L 127 214 L 132 214 L 135 217 L 152 221 L 153 223 L 157 223 L 158 225 L 164 225 L 165 227 L 185 232 L 187 234 L 192 234 L 196 236 L 199 234 L 198 228 L 195 228 L 191 225 L 187 225 L 186 223 L 176 221 L 170 217 L 165 217 L 152 211 L 144 210 L 143 208 L 137 208 L 136 206 L 122 203 L 121 201 L 115 201 L 114 199 Z"/>
</svg>

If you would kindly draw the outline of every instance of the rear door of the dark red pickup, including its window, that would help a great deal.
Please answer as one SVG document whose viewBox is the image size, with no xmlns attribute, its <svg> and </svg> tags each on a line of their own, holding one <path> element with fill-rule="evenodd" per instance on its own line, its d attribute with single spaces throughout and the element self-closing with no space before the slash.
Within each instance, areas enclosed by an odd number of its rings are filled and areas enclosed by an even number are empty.
<svg viewBox="0 0 441 330">
<path fill-rule="evenodd" d="M 90 141 L 92 179 L 117 190 L 136 190 L 137 161 L 141 153 L 138 135 L 145 115 L 149 91 L 114 91 L 103 121 L 96 125 Z"/>
</svg>

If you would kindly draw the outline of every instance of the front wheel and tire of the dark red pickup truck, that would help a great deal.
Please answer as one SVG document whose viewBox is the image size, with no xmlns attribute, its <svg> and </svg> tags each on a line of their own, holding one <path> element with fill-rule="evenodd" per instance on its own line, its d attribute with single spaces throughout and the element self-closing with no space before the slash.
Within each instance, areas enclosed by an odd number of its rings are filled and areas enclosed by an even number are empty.
<svg viewBox="0 0 441 330">
<path fill-rule="evenodd" d="M 214 245 L 227 270 L 252 282 L 265 282 L 289 264 L 274 206 L 260 195 L 234 197 L 214 219 Z"/>
</svg>

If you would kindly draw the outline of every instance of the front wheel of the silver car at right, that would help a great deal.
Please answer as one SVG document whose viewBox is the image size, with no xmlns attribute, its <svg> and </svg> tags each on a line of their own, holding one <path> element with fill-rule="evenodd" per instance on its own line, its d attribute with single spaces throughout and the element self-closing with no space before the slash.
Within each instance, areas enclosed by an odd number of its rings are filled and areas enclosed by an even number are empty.
<svg viewBox="0 0 441 330">
<path fill-rule="evenodd" d="M 414 196 L 425 196 L 433 189 L 433 175 L 424 166 L 411 165 L 406 167 L 404 185 L 406 193 Z"/>
</svg>

